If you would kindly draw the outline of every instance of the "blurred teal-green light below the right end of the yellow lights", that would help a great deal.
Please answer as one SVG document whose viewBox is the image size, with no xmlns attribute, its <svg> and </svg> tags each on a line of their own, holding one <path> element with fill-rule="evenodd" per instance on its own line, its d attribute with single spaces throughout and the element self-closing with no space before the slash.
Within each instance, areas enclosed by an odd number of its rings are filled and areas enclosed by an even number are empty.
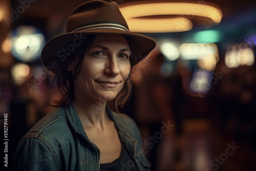
<svg viewBox="0 0 256 171">
<path fill-rule="evenodd" d="M 194 34 L 194 42 L 197 43 L 210 43 L 221 41 L 222 34 L 217 30 L 199 31 Z"/>
</svg>

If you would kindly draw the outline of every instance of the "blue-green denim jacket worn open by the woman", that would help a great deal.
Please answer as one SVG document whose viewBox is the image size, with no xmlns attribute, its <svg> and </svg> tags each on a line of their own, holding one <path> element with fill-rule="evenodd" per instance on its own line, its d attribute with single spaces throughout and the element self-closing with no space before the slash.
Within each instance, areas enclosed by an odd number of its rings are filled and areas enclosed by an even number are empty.
<svg viewBox="0 0 256 171">
<path fill-rule="evenodd" d="M 150 170 L 135 122 L 125 114 L 117 114 L 109 109 L 107 113 L 138 168 Z M 131 162 L 121 164 L 122 170 L 130 170 Z M 99 166 L 99 148 L 84 132 L 73 103 L 68 108 L 58 108 L 38 121 L 20 140 L 13 156 L 14 170 L 91 171 L 99 170 Z"/>
</svg>

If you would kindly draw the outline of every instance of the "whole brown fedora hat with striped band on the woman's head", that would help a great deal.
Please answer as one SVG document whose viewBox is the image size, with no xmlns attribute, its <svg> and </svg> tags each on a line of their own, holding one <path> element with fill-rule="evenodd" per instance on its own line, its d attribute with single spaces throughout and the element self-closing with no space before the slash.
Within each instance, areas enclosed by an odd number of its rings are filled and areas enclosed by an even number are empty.
<svg viewBox="0 0 256 171">
<path fill-rule="evenodd" d="M 41 52 L 44 65 L 53 72 L 71 52 L 92 34 L 109 33 L 133 37 L 138 53 L 137 62 L 145 58 L 156 46 L 153 38 L 129 31 L 116 2 L 90 1 L 78 6 L 69 16 L 66 33 L 47 42 Z M 71 56 L 70 56 L 71 57 Z"/>
</svg>

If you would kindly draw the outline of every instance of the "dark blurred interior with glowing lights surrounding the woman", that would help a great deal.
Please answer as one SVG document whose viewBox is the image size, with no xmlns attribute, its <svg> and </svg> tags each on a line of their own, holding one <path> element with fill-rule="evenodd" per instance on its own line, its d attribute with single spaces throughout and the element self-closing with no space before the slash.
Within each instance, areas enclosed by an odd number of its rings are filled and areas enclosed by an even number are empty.
<svg viewBox="0 0 256 171">
<path fill-rule="evenodd" d="M 3 135 L 8 114 L 9 170 L 19 140 L 58 96 L 40 51 L 84 2 L 0 0 L 0 125 Z M 256 170 L 256 2 L 116 2 L 130 31 L 157 41 L 131 71 L 132 100 L 123 111 L 139 126 L 152 170 Z"/>
</svg>

